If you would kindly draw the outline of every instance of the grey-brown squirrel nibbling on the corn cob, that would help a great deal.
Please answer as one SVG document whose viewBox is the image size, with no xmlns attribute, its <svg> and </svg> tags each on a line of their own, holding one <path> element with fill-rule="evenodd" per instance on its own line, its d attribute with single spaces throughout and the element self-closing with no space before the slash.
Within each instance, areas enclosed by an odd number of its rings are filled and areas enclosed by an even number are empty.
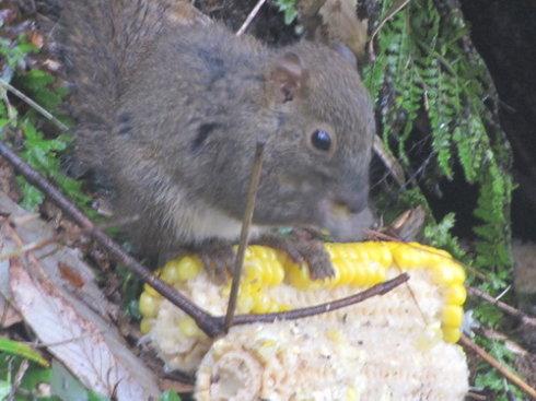
<svg viewBox="0 0 536 401">
<path fill-rule="evenodd" d="M 108 184 L 116 215 L 139 216 L 127 231 L 142 255 L 195 249 L 221 275 L 261 141 L 252 241 L 331 275 L 319 240 L 270 233 L 353 240 L 370 224 L 375 122 L 356 60 L 343 46 L 269 48 L 218 22 L 179 24 L 174 7 L 60 1 L 77 160 Z"/>
</svg>

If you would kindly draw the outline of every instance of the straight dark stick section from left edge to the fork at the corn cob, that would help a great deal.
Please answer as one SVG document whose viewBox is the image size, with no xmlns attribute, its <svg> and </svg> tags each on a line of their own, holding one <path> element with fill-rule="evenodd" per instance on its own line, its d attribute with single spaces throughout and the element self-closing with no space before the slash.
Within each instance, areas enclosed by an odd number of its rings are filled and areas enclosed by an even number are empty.
<svg viewBox="0 0 536 401">
<path fill-rule="evenodd" d="M 221 333 L 222 321 L 196 306 L 185 295 L 177 292 L 173 286 L 164 283 L 159 278 L 151 274 L 151 271 L 138 262 L 130 255 L 126 253 L 121 247 L 109 238 L 102 229 L 97 228 L 77 207 L 74 207 L 58 189 L 53 187 L 40 174 L 35 172 L 30 165 L 24 163 L 9 146 L 0 141 L 0 155 L 5 157 L 13 167 L 24 176 L 31 184 L 39 188 L 51 199 L 67 215 L 78 225 L 88 231 L 90 238 L 103 246 L 117 262 L 130 268 L 147 284 L 151 285 L 160 294 L 165 296 L 172 304 L 180 308 L 190 316 L 197 326 L 209 337 Z"/>
</svg>

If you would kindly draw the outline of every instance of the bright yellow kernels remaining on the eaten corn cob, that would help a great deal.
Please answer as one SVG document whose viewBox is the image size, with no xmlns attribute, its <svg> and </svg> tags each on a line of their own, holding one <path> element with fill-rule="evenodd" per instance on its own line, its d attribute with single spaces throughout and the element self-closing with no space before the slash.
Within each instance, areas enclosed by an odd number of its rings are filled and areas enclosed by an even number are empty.
<svg viewBox="0 0 536 401">
<path fill-rule="evenodd" d="M 277 287 L 284 279 L 291 286 L 301 291 L 337 288 L 345 285 L 360 288 L 384 282 L 393 267 L 398 268 L 394 269 L 394 273 L 424 269 L 431 273 L 433 283 L 443 295 L 444 340 L 456 342 L 459 339 L 463 305 L 467 295 L 464 287 L 465 272 L 447 252 L 416 243 L 326 244 L 326 250 L 331 258 L 335 276 L 324 281 L 312 281 L 308 270 L 292 262 L 284 253 L 263 246 L 249 246 L 245 255 L 245 274 L 241 283 L 238 311 L 265 314 L 295 307 L 270 297 L 266 291 Z M 196 278 L 200 271 L 201 262 L 198 258 L 185 257 L 167 262 L 159 274 L 166 283 L 180 287 L 180 283 Z M 222 295 L 229 296 L 229 285 L 223 287 Z M 160 300 L 160 294 L 145 285 L 140 298 L 140 310 L 145 318 L 142 322 L 143 332 L 150 329 L 150 319 L 156 316 Z"/>
</svg>

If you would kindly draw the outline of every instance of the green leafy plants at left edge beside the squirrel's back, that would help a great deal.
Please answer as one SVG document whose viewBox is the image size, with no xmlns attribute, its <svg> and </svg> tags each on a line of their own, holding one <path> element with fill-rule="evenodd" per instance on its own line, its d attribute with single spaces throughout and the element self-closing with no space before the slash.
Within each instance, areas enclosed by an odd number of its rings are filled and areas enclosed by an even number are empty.
<svg viewBox="0 0 536 401">
<path fill-rule="evenodd" d="M 37 102 L 46 110 L 59 116 L 63 122 L 67 118 L 59 115 L 59 106 L 67 94 L 65 87 L 57 86 L 55 76 L 46 71 L 31 69 L 23 71 L 16 69 L 24 58 L 36 48 L 26 42 L 24 36 L 14 42 L 0 39 L 0 55 L 7 60 L 5 73 L 1 78 L 7 83 L 16 83 L 27 96 Z M 10 82 L 11 81 L 11 82 Z M 66 133 L 45 134 L 42 127 L 46 121 L 33 108 L 13 106 L 8 102 L 5 91 L 0 86 L 0 138 L 11 139 L 18 143 L 18 137 L 22 137 L 19 154 L 37 172 L 53 179 L 61 190 L 69 196 L 86 213 L 94 215 L 88 205 L 91 198 L 82 191 L 82 184 L 66 176 L 60 166 L 59 155 L 71 143 L 71 138 Z M 23 178 L 18 179 L 22 200 L 21 204 L 27 210 L 36 210 L 43 203 L 44 196 L 40 191 L 28 185 Z"/>
</svg>

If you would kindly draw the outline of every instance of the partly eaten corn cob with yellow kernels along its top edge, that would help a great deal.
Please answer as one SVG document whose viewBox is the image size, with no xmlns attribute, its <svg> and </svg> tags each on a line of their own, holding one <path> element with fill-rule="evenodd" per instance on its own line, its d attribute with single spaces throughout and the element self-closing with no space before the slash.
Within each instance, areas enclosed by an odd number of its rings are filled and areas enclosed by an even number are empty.
<svg viewBox="0 0 536 401">
<path fill-rule="evenodd" d="M 461 335 L 462 266 L 445 251 L 415 243 L 326 244 L 326 250 L 335 276 L 312 281 L 306 267 L 284 252 L 249 246 L 237 311 L 311 306 L 400 271 L 411 279 L 348 308 L 293 322 L 235 327 L 215 342 L 145 286 L 141 330 L 170 367 L 197 370 L 199 400 L 462 400 L 467 365 L 461 349 L 450 344 Z M 200 307 L 224 314 L 230 284 L 212 283 L 197 257 L 173 260 L 159 274 Z"/>
</svg>

